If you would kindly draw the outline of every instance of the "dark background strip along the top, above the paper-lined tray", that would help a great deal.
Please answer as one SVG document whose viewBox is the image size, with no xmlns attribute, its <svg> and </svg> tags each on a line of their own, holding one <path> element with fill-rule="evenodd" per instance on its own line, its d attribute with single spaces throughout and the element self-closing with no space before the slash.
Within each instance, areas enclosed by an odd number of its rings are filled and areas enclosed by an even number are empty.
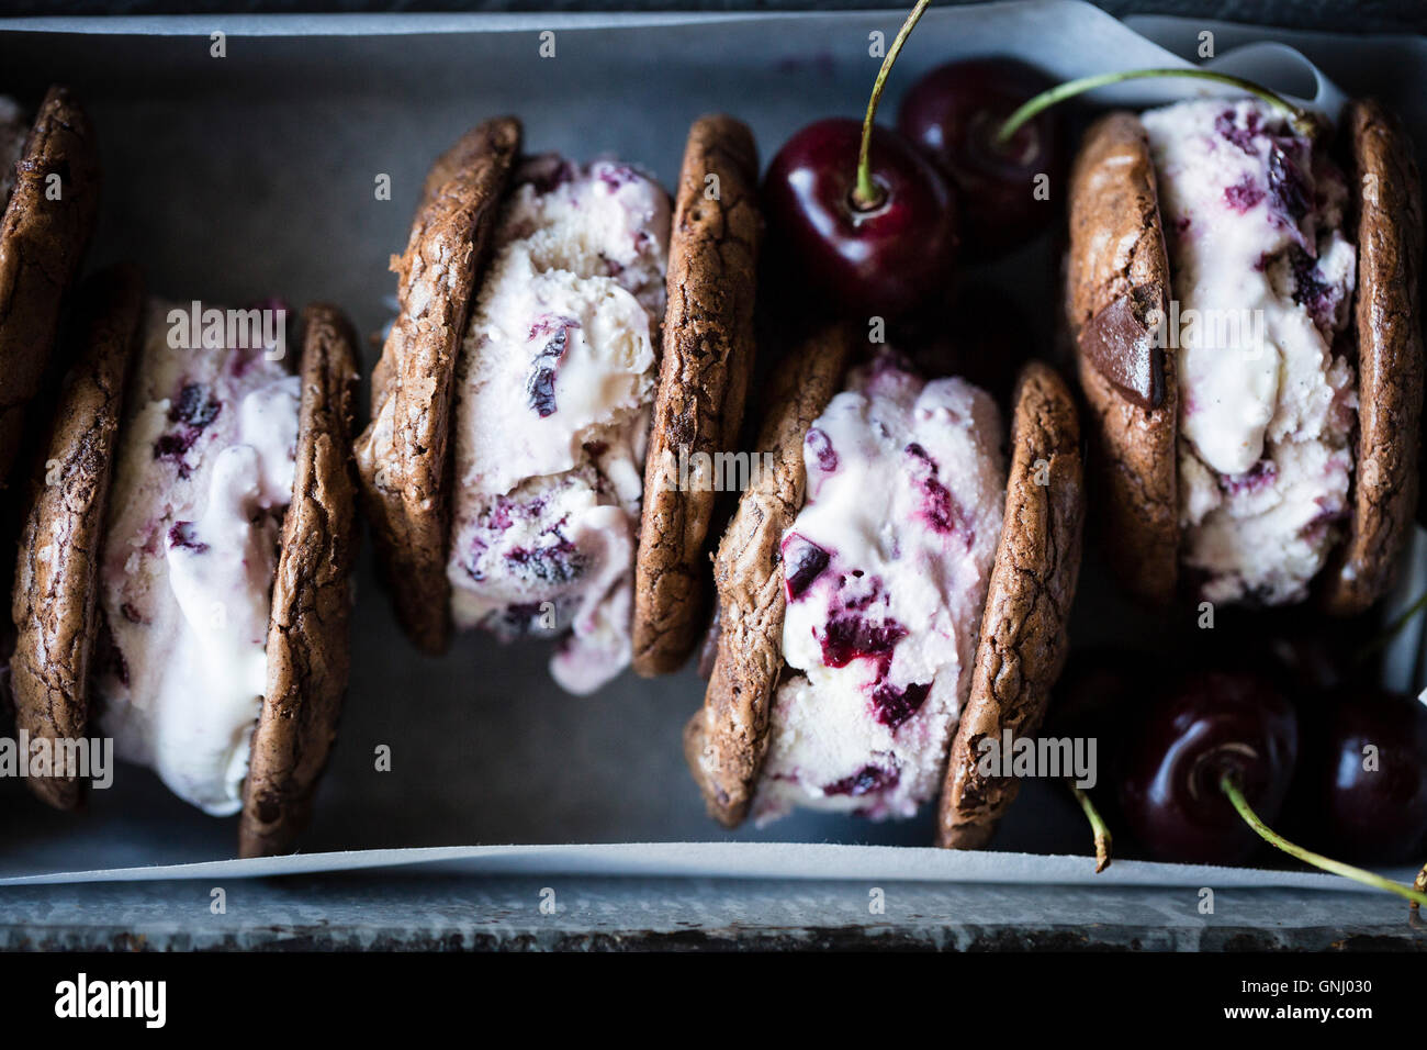
<svg viewBox="0 0 1427 1050">
<path fill-rule="evenodd" d="M 953 0 L 955 1 L 955 0 Z M 3 14 L 311 14 L 350 11 L 868 10 L 889 0 L 0 0 Z M 910 4 L 906 4 L 908 7 Z M 938 4 L 942 6 L 942 4 Z M 1427 31 L 1423 0 L 1103 0 L 1110 14 L 1182 14 L 1337 33 Z"/>
</svg>

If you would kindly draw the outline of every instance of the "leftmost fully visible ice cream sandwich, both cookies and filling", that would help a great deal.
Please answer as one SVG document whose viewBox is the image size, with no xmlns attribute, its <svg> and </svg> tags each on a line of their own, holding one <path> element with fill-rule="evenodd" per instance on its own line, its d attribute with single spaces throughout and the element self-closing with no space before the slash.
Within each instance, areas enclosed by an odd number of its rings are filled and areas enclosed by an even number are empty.
<svg viewBox="0 0 1427 1050">
<path fill-rule="evenodd" d="M 280 307 L 191 309 L 146 300 L 133 267 L 86 287 L 10 680 L 31 747 L 110 737 L 186 801 L 241 813 L 258 856 L 307 823 L 347 687 L 355 343 L 310 306 L 294 370 Z M 83 796 L 59 764 L 29 783 L 59 809 Z"/>
</svg>

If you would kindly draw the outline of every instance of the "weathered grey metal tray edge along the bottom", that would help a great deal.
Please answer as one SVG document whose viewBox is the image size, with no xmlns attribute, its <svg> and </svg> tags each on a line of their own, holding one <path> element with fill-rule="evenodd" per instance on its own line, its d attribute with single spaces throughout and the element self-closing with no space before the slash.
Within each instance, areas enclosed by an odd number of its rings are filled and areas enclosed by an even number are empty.
<svg viewBox="0 0 1427 1050">
<path fill-rule="evenodd" d="M 6 890 L 0 950 L 1427 950 L 1427 924 L 1388 896 L 1223 890 L 1200 906 L 1187 889 L 925 883 L 124 883 Z"/>
</svg>

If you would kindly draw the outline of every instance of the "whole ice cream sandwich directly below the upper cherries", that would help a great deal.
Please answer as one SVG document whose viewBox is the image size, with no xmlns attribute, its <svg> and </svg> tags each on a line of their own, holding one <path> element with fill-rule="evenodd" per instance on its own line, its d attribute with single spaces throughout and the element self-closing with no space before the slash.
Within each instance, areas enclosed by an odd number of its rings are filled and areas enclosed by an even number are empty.
<svg viewBox="0 0 1427 1050">
<path fill-rule="evenodd" d="M 939 844 L 980 846 L 1017 790 L 980 744 L 1035 733 L 1065 660 L 1083 520 L 1070 393 L 1022 370 L 1009 464 L 989 394 L 842 327 L 781 361 L 769 397 L 768 469 L 715 556 L 716 650 L 685 731 L 709 813 L 900 819 L 940 796 Z"/>
</svg>

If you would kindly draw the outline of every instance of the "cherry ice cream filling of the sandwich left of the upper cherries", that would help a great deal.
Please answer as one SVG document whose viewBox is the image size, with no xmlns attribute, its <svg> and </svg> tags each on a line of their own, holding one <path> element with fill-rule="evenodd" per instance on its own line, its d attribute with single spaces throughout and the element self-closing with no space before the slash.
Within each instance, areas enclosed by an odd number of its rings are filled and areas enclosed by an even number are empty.
<svg viewBox="0 0 1427 1050">
<path fill-rule="evenodd" d="M 527 161 L 457 363 L 447 576 L 461 627 L 564 636 L 589 693 L 629 663 L 669 200 L 615 161 Z"/>
</svg>

